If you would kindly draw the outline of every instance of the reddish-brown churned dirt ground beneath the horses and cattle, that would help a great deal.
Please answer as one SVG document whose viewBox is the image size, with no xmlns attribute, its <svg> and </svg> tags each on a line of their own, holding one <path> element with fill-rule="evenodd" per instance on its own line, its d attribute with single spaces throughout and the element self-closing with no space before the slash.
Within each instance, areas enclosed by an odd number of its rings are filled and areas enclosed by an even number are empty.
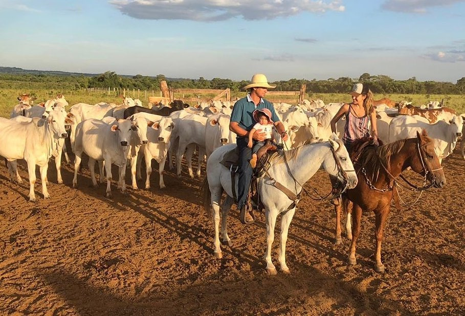
<svg viewBox="0 0 465 316">
<path fill-rule="evenodd" d="M 129 187 L 124 196 L 115 184 L 114 198 L 108 199 L 105 185 L 90 187 L 85 167 L 79 188 L 73 189 L 72 167 L 63 164 L 64 185 L 58 185 L 51 161 L 51 198 L 43 199 L 37 184 L 37 202 L 29 202 L 25 166 L 20 164 L 20 174 L 26 181 L 17 185 L 0 164 L 0 314 L 465 311 L 465 161 L 458 150 L 443 162 L 444 189 L 428 190 L 411 208 L 392 210 L 383 242 L 384 274 L 373 270 L 372 214 L 362 219 L 358 264 L 348 266 L 349 241 L 334 245 L 335 214 L 329 203 L 303 197 L 287 241 L 291 275 L 269 276 L 262 260 L 264 215 L 246 226 L 233 208 L 232 246 L 224 246 L 223 259 L 215 259 L 212 221 L 201 206 L 202 180 L 190 179 L 185 170 L 181 178 L 167 171 L 165 190 L 159 189 L 158 173 L 152 173 L 151 189 Z M 329 190 L 323 172 L 308 185 Z M 405 194 L 409 201 L 414 197 Z"/>
</svg>

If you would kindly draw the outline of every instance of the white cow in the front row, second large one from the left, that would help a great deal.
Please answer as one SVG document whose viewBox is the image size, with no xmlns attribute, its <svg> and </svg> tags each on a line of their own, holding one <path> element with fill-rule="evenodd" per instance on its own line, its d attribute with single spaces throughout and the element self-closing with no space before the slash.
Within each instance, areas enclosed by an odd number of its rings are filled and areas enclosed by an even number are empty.
<svg viewBox="0 0 465 316">
<path fill-rule="evenodd" d="M 106 196 L 112 196 L 110 184 L 112 182 L 112 164 L 119 167 L 118 188 L 126 191 L 126 161 L 134 126 L 130 120 L 115 120 L 113 124 L 107 124 L 102 120 L 88 119 L 80 122 L 76 128 L 74 178 L 73 188 L 77 187 L 77 171 L 81 164 L 82 153 L 88 157 L 88 167 L 94 187 L 97 186 L 95 179 L 95 162 L 104 161 L 106 171 Z M 141 137 L 141 136 L 140 136 Z M 141 137 L 142 138 L 142 137 Z"/>
</svg>

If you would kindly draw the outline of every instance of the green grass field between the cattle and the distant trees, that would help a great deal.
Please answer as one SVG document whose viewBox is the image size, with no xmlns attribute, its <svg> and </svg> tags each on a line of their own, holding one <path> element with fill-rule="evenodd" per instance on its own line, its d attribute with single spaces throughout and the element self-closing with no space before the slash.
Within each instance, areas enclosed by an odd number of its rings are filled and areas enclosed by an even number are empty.
<svg viewBox="0 0 465 316">
<path fill-rule="evenodd" d="M 68 100 L 68 103 L 71 105 L 83 102 L 88 104 L 96 104 L 98 102 L 113 102 L 120 104 L 121 98 L 115 95 L 108 95 L 104 92 L 90 92 L 86 89 L 74 90 L 74 89 L 28 89 L 28 87 L 24 87 L 23 89 L 1 89 L 0 90 L 0 116 L 1 117 L 10 117 L 11 110 L 13 107 L 18 103 L 16 98 L 18 95 L 23 93 L 29 93 L 30 95 L 34 95 L 37 97 L 37 100 L 34 103 L 44 102 L 49 99 L 53 99 L 56 97 L 57 94 L 63 94 L 65 98 Z M 150 93 L 151 94 L 151 93 Z M 155 93 L 159 96 L 159 92 Z M 246 95 L 245 92 L 232 92 L 232 98 L 241 98 Z M 135 95 L 132 91 L 126 93 L 128 97 L 138 97 L 138 93 L 136 92 Z M 140 93 L 140 100 L 146 106 L 148 102 L 149 92 L 147 92 L 147 97 L 145 98 L 145 92 Z M 196 96 L 185 95 L 185 98 L 192 98 Z M 213 96 L 205 95 L 206 98 L 211 98 Z M 289 96 L 268 96 L 265 97 L 268 100 L 278 100 L 283 99 Z M 394 101 L 401 101 L 407 100 L 412 101 L 415 105 L 426 104 L 428 101 L 441 101 L 444 99 L 444 105 L 451 107 L 457 111 L 458 114 L 465 112 L 465 95 L 374 95 L 374 99 L 378 100 L 381 98 L 387 97 Z M 175 99 L 182 99 L 181 95 L 174 95 Z M 350 102 L 351 98 L 348 94 L 307 94 L 307 99 L 321 99 L 324 103 L 330 102 Z M 297 98 L 289 98 L 288 103 L 296 103 Z M 192 102 L 190 102 L 192 103 Z"/>
</svg>

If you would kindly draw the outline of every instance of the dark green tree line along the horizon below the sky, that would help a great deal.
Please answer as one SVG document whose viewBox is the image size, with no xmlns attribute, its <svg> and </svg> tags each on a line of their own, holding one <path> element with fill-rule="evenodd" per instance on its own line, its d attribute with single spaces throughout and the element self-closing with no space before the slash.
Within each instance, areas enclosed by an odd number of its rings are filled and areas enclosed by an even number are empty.
<svg viewBox="0 0 465 316">
<path fill-rule="evenodd" d="M 226 89 L 240 91 L 249 84 L 248 80 L 200 77 L 198 79 L 170 79 L 164 75 L 157 76 L 122 76 L 115 72 L 105 72 L 95 76 L 56 76 L 50 74 L 0 74 L 0 88 L 24 88 L 25 84 L 34 88 L 125 88 L 141 90 L 160 90 L 160 81 L 165 80 L 170 88 Z M 407 80 L 395 80 L 386 75 L 372 76 L 368 73 L 359 78 L 340 77 L 326 80 L 290 79 L 272 82 L 275 91 L 299 91 L 306 84 L 307 93 L 347 93 L 357 82 L 368 84 L 377 94 L 465 94 L 465 77 L 456 83 L 442 81 L 418 81 L 415 77 Z"/>
</svg>

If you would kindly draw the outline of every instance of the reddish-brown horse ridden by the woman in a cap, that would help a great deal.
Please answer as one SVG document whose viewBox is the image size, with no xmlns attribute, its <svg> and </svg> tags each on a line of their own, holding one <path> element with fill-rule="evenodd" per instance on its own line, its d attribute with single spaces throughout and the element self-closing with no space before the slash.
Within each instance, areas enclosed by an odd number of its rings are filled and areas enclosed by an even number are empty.
<svg viewBox="0 0 465 316">
<path fill-rule="evenodd" d="M 354 144 L 354 152 L 360 144 Z M 355 257 L 357 238 L 360 234 L 362 211 L 373 211 L 375 214 L 376 263 L 375 270 L 384 272 L 381 261 L 381 241 L 383 229 L 389 214 L 391 200 L 396 192 L 397 177 L 410 167 L 414 172 L 425 177 L 424 190 L 431 186 L 442 188 L 446 177 L 434 150 L 434 144 L 425 130 L 417 137 L 404 139 L 380 147 L 367 147 L 360 153 L 353 164 L 358 174 L 357 187 L 347 190 L 342 205 L 347 208 L 353 202 L 352 242 L 350 244 L 349 264 L 357 264 Z M 426 186 L 426 182 L 430 184 Z M 347 200 L 348 199 L 348 200 Z M 336 241 L 341 239 L 341 204 L 335 206 L 337 214 Z M 350 238 L 350 234 L 348 234 Z"/>
</svg>

